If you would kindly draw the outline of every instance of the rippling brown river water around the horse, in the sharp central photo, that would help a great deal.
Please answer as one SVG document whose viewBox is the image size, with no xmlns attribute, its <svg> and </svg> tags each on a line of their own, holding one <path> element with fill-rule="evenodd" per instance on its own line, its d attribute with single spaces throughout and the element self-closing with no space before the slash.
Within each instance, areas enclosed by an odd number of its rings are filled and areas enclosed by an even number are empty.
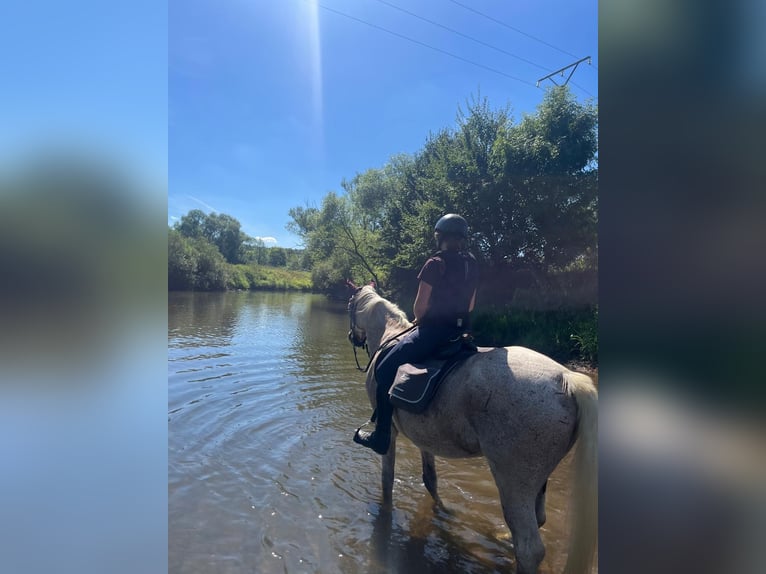
<svg viewBox="0 0 766 574">
<path fill-rule="evenodd" d="M 380 457 L 351 441 L 370 406 L 347 331 L 345 305 L 320 295 L 169 294 L 169 572 L 514 570 L 483 459 L 437 458 L 435 509 L 400 438 L 381 506 Z M 566 560 L 568 488 L 569 457 L 548 485 L 541 572 Z"/>
</svg>

